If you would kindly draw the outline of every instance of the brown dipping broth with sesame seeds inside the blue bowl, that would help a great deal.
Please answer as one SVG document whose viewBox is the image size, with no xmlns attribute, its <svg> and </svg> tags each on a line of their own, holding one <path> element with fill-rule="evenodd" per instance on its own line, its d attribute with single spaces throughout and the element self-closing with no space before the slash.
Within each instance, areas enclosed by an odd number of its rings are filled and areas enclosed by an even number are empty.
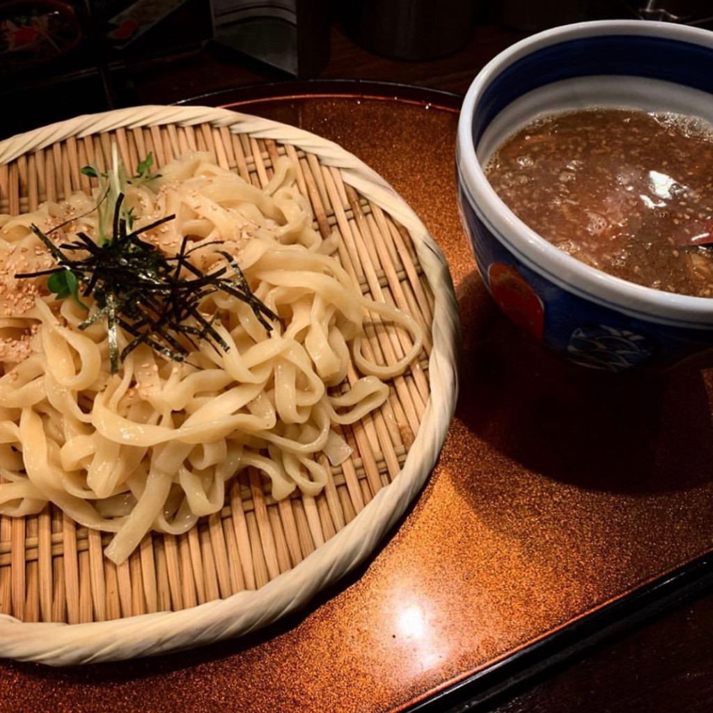
<svg viewBox="0 0 713 713">
<path fill-rule="evenodd" d="M 713 127 L 615 108 L 538 118 L 486 175 L 561 250 L 630 282 L 713 297 Z"/>
</svg>

